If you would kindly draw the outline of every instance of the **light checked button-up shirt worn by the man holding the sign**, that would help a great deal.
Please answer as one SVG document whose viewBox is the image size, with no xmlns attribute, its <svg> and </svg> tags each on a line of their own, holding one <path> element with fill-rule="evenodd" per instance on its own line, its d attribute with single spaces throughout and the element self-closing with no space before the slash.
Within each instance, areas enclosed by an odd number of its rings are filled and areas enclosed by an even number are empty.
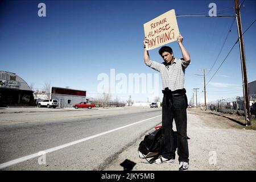
<svg viewBox="0 0 256 182">
<path fill-rule="evenodd" d="M 190 63 L 191 61 L 186 62 L 182 58 L 175 58 L 174 63 L 170 65 L 166 65 L 165 62 L 160 64 L 152 60 L 146 65 L 161 73 L 163 90 L 168 87 L 170 90 L 174 91 L 184 88 L 185 69 Z"/>
</svg>

